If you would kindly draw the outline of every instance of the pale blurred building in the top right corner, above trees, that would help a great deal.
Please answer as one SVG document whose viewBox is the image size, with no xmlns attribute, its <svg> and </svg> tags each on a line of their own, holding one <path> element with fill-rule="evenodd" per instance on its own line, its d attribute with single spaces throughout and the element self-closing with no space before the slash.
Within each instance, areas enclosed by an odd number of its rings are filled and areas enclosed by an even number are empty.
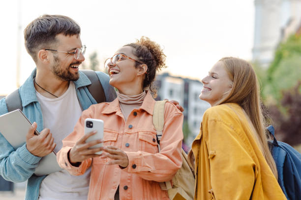
<svg viewBox="0 0 301 200">
<path fill-rule="evenodd" d="M 301 23 L 301 0 L 255 0 L 253 62 L 268 67 L 281 41 Z"/>
</svg>

